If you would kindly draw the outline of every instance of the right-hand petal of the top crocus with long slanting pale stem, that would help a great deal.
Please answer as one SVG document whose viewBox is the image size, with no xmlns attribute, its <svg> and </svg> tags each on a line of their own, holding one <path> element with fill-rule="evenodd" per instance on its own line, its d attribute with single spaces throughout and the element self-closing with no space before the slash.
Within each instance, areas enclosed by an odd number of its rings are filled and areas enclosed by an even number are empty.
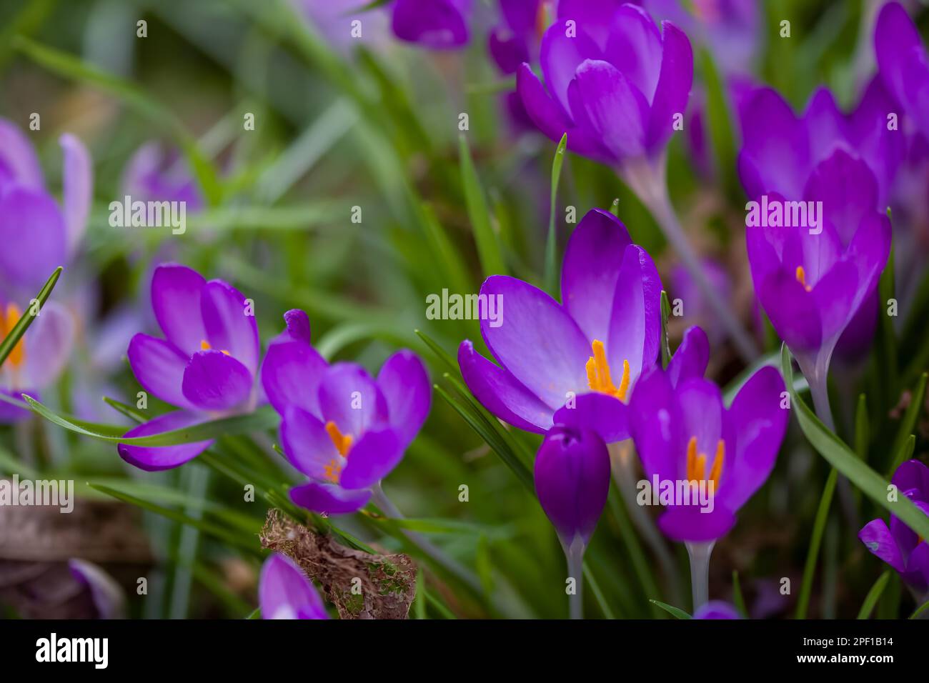
<svg viewBox="0 0 929 683">
<path fill-rule="evenodd" d="M 655 151 L 674 133 L 674 116 L 687 110 L 694 77 L 693 49 L 670 21 L 661 22 L 661 76 L 648 114 L 646 145 Z"/>
</svg>

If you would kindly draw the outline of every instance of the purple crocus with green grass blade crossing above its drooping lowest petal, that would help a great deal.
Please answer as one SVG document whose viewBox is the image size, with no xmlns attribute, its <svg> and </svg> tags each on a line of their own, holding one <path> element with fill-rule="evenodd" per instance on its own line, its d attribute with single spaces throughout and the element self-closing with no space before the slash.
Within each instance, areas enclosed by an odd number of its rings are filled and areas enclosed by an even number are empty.
<svg viewBox="0 0 929 683">
<path fill-rule="evenodd" d="M 252 307 L 229 282 L 207 282 L 195 270 L 164 264 L 151 278 L 151 307 L 164 339 L 138 334 L 127 355 L 138 383 L 181 410 L 156 417 L 126 437 L 160 434 L 243 413 L 255 406 L 260 359 Z M 127 463 L 146 470 L 183 465 L 212 441 L 176 446 L 119 444 Z"/>
</svg>

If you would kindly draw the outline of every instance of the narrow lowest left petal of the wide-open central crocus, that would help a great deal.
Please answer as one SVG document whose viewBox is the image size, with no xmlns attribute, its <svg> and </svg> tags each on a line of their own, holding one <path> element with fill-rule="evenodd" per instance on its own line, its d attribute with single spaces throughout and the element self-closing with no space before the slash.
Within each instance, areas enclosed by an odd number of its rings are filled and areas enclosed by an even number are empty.
<svg viewBox="0 0 929 683">
<path fill-rule="evenodd" d="M 509 371 L 494 365 L 464 340 L 458 347 L 464 384 L 481 405 L 504 422 L 525 431 L 543 433 L 552 427 L 552 408 Z"/>
</svg>

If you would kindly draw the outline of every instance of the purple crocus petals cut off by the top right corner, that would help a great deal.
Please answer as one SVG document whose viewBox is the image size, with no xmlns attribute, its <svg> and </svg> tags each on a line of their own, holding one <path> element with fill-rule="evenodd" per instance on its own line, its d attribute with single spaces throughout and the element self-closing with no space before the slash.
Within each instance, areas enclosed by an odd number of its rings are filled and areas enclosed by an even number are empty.
<svg viewBox="0 0 929 683">
<path fill-rule="evenodd" d="M 881 9 L 874 52 L 884 84 L 923 135 L 929 135 L 929 55 L 907 10 L 898 3 Z"/>
</svg>

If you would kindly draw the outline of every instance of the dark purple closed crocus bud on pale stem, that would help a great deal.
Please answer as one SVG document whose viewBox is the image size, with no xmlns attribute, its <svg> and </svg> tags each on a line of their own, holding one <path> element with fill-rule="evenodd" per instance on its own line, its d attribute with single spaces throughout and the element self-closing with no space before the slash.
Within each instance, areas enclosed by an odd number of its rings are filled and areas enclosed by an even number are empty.
<svg viewBox="0 0 929 683">
<path fill-rule="evenodd" d="M 553 427 L 535 458 L 535 491 L 565 548 L 586 546 L 607 504 L 607 445 L 589 429 Z"/>
</svg>

